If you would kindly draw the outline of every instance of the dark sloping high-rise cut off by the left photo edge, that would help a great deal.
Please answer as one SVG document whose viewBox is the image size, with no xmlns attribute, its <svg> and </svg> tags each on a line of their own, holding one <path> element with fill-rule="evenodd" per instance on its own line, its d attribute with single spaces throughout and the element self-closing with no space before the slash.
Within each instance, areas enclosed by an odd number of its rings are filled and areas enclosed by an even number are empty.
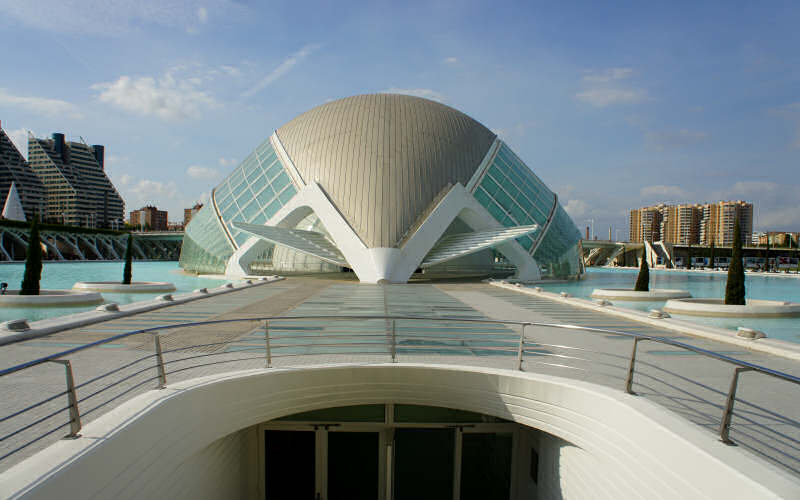
<svg viewBox="0 0 800 500">
<path fill-rule="evenodd" d="M 25 218 L 31 220 L 34 213 L 41 216 L 45 208 L 42 181 L 0 127 L 0 200 L 8 198 L 12 183 L 22 202 Z"/>
</svg>

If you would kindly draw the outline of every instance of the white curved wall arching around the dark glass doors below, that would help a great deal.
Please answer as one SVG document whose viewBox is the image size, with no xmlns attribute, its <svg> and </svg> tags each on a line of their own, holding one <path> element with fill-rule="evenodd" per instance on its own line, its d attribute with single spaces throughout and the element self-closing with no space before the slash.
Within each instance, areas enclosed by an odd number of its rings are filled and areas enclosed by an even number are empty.
<svg viewBox="0 0 800 500">
<path fill-rule="evenodd" d="M 777 498 L 800 491 L 796 479 L 621 391 L 509 370 L 386 364 L 253 370 L 152 391 L 87 425 L 82 438 L 0 475 L 0 496 L 243 497 L 251 479 L 211 489 L 239 459 L 220 466 L 213 458 L 220 453 L 209 450 L 242 456 L 251 453 L 242 436 L 258 423 L 387 402 L 475 411 L 552 434 L 540 442 L 539 498 Z"/>
</svg>

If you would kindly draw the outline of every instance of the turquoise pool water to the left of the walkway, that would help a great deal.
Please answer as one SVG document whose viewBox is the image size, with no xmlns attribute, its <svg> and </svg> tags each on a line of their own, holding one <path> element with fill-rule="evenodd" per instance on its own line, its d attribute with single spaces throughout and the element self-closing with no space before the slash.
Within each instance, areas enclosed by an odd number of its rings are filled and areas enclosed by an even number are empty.
<svg viewBox="0 0 800 500">
<path fill-rule="evenodd" d="M 46 262 L 42 269 L 41 288 L 70 289 L 78 281 L 121 281 L 124 262 Z M 8 283 L 9 288 L 19 288 L 24 263 L 0 264 L 0 281 Z M 169 281 L 177 288 L 175 293 L 191 292 L 196 288 L 211 288 L 226 283 L 226 280 L 199 278 L 183 273 L 175 261 L 133 263 L 134 281 Z M 130 304 L 150 300 L 160 293 L 105 293 L 106 302 Z M 52 318 L 63 314 L 90 311 L 97 307 L 0 307 L 0 321 L 27 318 L 30 321 Z"/>
</svg>

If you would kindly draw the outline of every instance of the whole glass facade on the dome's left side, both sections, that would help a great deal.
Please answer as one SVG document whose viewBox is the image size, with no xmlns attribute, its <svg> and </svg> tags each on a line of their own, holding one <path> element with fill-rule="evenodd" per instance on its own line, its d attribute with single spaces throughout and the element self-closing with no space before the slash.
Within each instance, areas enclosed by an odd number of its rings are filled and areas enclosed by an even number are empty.
<svg viewBox="0 0 800 500">
<path fill-rule="evenodd" d="M 272 144 L 265 140 L 212 192 L 222 220 L 211 203 L 192 217 L 184 236 L 181 267 L 198 273 L 224 273 L 236 247 L 249 237 L 234 228 L 233 222 L 265 224 L 296 193 Z"/>
</svg>

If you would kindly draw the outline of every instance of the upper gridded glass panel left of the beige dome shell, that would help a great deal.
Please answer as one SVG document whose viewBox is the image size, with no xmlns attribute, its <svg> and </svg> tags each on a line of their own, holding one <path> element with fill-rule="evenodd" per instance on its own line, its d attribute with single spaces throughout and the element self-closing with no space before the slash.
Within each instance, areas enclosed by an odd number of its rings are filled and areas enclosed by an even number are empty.
<svg viewBox="0 0 800 500">
<path fill-rule="evenodd" d="M 269 139 L 214 190 L 219 213 L 238 246 L 249 237 L 233 222 L 265 224 L 297 194 Z"/>
</svg>

